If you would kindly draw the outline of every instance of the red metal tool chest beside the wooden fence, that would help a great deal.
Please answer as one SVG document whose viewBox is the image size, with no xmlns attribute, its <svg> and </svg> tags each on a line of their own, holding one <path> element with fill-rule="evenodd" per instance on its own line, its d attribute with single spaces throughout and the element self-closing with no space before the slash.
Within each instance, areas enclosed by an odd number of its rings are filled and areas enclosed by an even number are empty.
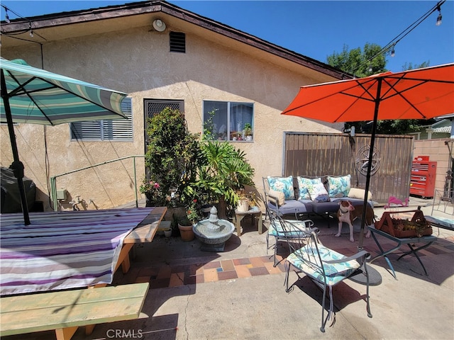
<svg viewBox="0 0 454 340">
<path fill-rule="evenodd" d="M 411 163 L 410 194 L 421 198 L 433 198 L 437 162 L 430 162 L 428 156 L 415 157 Z"/>
</svg>

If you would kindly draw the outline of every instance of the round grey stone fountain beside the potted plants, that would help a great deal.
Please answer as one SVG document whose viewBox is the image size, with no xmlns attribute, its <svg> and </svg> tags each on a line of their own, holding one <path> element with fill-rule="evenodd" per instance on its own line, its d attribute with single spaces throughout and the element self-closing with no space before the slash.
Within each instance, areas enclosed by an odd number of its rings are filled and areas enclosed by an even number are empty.
<svg viewBox="0 0 454 340">
<path fill-rule="evenodd" d="M 226 241 L 232 236 L 235 226 L 228 220 L 219 220 L 218 210 L 213 207 L 209 218 L 201 220 L 192 229 L 196 238 L 202 242 L 202 251 L 224 251 Z"/>
</svg>

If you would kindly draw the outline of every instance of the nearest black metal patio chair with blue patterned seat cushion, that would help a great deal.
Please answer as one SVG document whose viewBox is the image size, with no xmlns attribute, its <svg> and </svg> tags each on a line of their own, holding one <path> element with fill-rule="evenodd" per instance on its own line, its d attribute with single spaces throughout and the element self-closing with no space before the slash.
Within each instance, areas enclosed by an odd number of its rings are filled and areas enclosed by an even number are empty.
<svg viewBox="0 0 454 340">
<path fill-rule="evenodd" d="M 284 234 L 288 234 L 291 230 L 289 229 L 289 225 L 292 225 L 292 223 L 280 218 L 279 222 L 282 225 L 282 229 L 284 229 Z M 321 290 L 323 290 L 320 330 L 322 332 L 325 331 L 328 319 L 332 319 L 330 327 L 336 322 L 336 313 L 333 311 L 333 286 L 341 283 L 345 278 L 354 275 L 366 276 L 367 316 L 372 317 L 369 304 L 369 274 L 367 273 L 366 264 L 366 258 L 367 256 L 370 256 L 370 254 L 364 250 L 359 251 L 353 256 L 339 254 L 338 252 L 323 246 L 314 230 L 307 234 L 304 243 L 299 242 L 299 240 L 301 240 L 301 238 L 287 239 L 290 249 L 292 249 L 292 254 L 289 254 L 285 261 L 285 290 L 289 293 L 293 290 L 296 283 L 293 283 L 289 287 L 289 271 L 291 266 L 297 268 L 298 271 L 295 271 L 295 273 L 297 273 L 298 280 L 301 278 L 299 273 L 304 273 L 311 278 Z M 327 292 L 329 293 L 329 309 L 328 315 L 325 318 L 325 300 Z"/>
</svg>

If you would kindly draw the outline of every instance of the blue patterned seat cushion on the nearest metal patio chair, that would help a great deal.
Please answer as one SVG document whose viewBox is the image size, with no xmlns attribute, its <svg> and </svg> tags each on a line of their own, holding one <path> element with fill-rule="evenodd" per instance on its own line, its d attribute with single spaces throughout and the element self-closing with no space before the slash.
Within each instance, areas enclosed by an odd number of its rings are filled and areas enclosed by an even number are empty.
<svg viewBox="0 0 454 340">
<path fill-rule="evenodd" d="M 345 259 L 346 257 L 343 254 L 339 254 L 336 251 L 326 248 L 326 246 L 323 246 L 322 244 L 319 244 L 318 248 L 322 261 L 333 261 Z M 319 256 L 316 254 L 315 245 L 307 245 L 294 251 L 294 253 L 287 256 L 287 261 L 315 280 L 323 282 L 321 263 L 319 261 Z M 316 265 L 314 266 L 311 263 L 316 263 Z M 325 283 L 327 285 L 336 285 L 336 283 L 339 283 L 345 277 L 350 276 L 359 267 L 360 263 L 355 260 L 341 263 L 323 263 L 326 274 Z"/>
</svg>

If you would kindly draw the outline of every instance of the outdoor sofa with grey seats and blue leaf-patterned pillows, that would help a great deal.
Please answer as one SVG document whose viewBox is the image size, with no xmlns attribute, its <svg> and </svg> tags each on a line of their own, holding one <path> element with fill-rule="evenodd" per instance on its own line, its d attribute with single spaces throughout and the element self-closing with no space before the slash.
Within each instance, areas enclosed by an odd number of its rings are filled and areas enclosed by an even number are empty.
<svg viewBox="0 0 454 340">
<path fill-rule="evenodd" d="M 295 218 L 310 215 L 327 216 L 336 213 L 341 200 L 352 204 L 364 203 L 365 191 L 352 188 L 351 176 L 267 176 L 263 177 L 265 205 L 267 212 L 279 216 L 294 215 Z M 368 204 L 373 208 L 372 194 Z"/>
</svg>

